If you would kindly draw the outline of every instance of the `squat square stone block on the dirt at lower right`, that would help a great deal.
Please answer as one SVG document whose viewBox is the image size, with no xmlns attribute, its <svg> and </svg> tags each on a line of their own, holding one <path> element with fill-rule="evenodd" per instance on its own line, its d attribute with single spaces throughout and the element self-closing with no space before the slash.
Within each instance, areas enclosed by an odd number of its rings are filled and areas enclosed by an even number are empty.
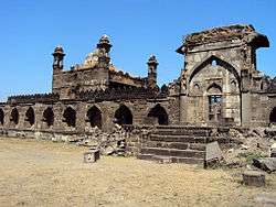
<svg viewBox="0 0 276 207">
<path fill-rule="evenodd" d="M 243 184 L 250 186 L 265 186 L 265 174 L 259 171 L 245 171 L 243 173 Z"/>
</svg>

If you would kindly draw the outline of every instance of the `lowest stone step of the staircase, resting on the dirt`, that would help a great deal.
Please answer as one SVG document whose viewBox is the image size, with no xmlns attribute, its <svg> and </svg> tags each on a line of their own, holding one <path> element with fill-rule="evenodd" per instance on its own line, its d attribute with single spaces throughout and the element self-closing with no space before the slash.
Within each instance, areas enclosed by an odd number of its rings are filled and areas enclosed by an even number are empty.
<svg viewBox="0 0 276 207">
<path fill-rule="evenodd" d="M 185 163 L 185 164 L 204 164 L 204 159 L 197 159 L 197 157 L 181 157 L 181 156 L 160 156 L 153 154 L 138 154 L 137 159 L 139 160 L 147 160 L 147 161 L 162 161 L 168 159 L 171 160 L 172 163 Z"/>
</svg>

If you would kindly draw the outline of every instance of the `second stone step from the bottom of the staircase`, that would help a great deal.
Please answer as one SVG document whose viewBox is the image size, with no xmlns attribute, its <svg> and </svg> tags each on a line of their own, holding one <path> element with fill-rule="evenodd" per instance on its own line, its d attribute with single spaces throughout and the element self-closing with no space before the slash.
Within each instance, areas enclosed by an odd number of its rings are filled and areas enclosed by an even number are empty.
<svg viewBox="0 0 276 207">
<path fill-rule="evenodd" d="M 178 150 L 178 149 L 160 149 L 160 148 L 142 148 L 141 154 L 155 154 L 164 156 L 180 156 L 180 157 L 197 157 L 204 159 L 205 152 L 199 150 Z"/>
</svg>

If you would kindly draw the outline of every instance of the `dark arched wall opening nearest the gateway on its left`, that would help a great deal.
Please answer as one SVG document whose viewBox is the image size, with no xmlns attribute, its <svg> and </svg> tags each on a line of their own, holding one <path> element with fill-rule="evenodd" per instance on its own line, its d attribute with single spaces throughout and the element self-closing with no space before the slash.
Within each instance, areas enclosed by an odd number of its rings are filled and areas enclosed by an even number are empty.
<svg viewBox="0 0 276 207">
<path fill-rule="evenodd" d="M 168 126 L 169 118 L 166 109 L 157 103 L 153 108 L 151 108 L 147 115 L 148 118 L 153 118 L 160 126 Z"/>
</svg>

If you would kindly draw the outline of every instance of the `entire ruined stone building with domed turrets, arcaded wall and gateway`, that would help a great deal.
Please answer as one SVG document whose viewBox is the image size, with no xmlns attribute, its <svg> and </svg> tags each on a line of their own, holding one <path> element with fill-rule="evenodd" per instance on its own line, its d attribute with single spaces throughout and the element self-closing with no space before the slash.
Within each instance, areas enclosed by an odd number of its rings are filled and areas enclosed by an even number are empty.
<svg viewBox="0 0 276 207">
<path fill-rule="evenodd" d="M 126 126 L 267 127 L 276 122 L 276 78 L 256 68 L 256 50 L 267 37 L 252 25 L 192 33 L 177 52 L 183 69 L 157 86 L 158 61 L 147 77 L 131 77 L 110 62 L 112 44 L 100 37 L 82 65 L 64 70 L 65 53 L 53 53 L 53 86 L 46 95 L 12 96 L 0 103 L 6 133 L 85 134 L 114 122 Z M 146 69 L 146 67 L 145 67 Z"/>
</svg>

